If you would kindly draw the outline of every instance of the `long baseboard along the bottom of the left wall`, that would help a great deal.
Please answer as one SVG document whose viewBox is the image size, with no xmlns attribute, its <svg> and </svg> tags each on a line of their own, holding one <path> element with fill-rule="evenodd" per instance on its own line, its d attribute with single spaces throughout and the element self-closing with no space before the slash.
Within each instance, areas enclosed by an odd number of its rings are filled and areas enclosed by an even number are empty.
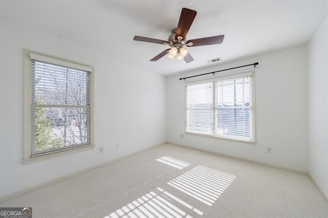
<svg viewBox="0 0 328 218">
<path fill-rule="evenodd" d="M 66 176 L 63 176 L 63 177 L 59 177 L 59 178 L 56 178 L 56 179 L 53 179 L 53 180 L 50 180 L 48 182 L 44 182 L 44 183 L 40 183 L 38 185 L 35 185 L 35 186 L 31 186 L 31 187 L 27 187 L 27 188 L 23 188 L 23 189 L 20 189 L 18 191 L 15 191 L 13 193 L 10 193 L 10 194 L 6 194 L 6 195 L 3 195 L 2 197 L 0 197 L 0 203 L 2 202 L 5 202 L 5 201 L 8 201 L 10 199 L 13 199 L 15 197 L 18 197 L 19 195 L 22 195 L 22 194 L 26 194 L 28 192 L 31 192 L 31 191 L 34 191 L 34 190 L 37 190 L 39 188 L 43 188 L 43 187 L 46 187 L 46 186 L 49 186 L 51 184 L 54 184 L 54 183 L 57 183 L 57 182 L 60 182 L 60 181 L 63 181 L 65 179 L 68 179 L 68 178 L 71 178 L 71 177 L 74 177 L 74 176 L 77 176 L 81 173 L 84 173 L 84 172 L 87 172 L 87 171 L 90 171 L 90 170 L 93 170 L 93 169 L 96 169 L 98 167 L 102 167 L 102 166 L 105 166 L 107 164 L 110 164 L 110 163 L 113 163 L 113 162 L 116 162 L 116 161 L 119 161 L 121 159 L 124 159 L 124 158 L 128 158 L 128 157 L 131 157 L 133 155 L 136 155 L 136 154 L 139 154 L 140 152 L 142 151 L 146 151 L 146 150 L 149 150 L 149 149 L 152 149 L 154 147 L 158 147 L 160 145 L 163 145 L 163 144 L 167 144 L 167 142 L 163 142 L 163 143 L 160 143 L 160 144 L 157 144 L 157 145 L 153 145 L 151 147 L 148 147 L 148 148 L 145 148 L 145 149 L 142 149 L 142 150 L 139 150 L 139 151 L 136 151 L 136 152 L 133 152 L 132 154 L 129 154 L 129 155 L 126 155 L 126 156 L 123 156 L 123 157 L 120 157 L 120 158 L 117 158 L 117 159 L 113 159 L 111 161 L 107 161 L 105 163 L 101 163 L 101 164 L 98 164 L 98 165 L 95 165 L 95 166 L 92 166 L 92 167 L 89 167 L 89 168 L 86 168 L 86 169 L 82 169 L 82 170 L 79 170 L 79 171 L 76 171 L 76 172 L 72 172 Z"/>
</svg>

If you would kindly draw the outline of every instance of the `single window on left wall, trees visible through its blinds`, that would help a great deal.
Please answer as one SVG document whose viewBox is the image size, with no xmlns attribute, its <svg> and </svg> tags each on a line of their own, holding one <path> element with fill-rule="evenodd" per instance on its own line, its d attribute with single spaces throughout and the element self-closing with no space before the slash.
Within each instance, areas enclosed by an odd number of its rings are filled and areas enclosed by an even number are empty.
<svg viewBox="0 0 328 218">
<path fill-rule="evenodd" d="M 93 68 L 26 56 L 25 159 L 93 146 Z"/>
</svg>

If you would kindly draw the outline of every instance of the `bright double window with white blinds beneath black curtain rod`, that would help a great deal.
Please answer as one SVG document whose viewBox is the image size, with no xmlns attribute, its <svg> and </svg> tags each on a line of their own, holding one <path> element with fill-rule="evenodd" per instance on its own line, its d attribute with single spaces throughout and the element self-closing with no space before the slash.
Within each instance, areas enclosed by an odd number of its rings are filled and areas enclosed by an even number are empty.
<svg viewBox="0 0 328 218">
<path fill-rule="evenodd" d="M 255 141 L 252 73 L 186 86 L 186 132 Z"/>
</svg>

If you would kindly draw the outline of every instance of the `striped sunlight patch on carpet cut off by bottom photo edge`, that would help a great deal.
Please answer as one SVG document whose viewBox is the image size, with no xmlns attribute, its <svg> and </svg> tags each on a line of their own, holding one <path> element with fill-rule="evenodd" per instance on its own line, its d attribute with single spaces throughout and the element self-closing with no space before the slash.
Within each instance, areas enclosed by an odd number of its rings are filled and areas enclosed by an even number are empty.
<svg viewBox="0 0 328 218">
<path fill-rule="evenodd" d="M 104 218 L 118 217 L 193 217 L 180 209 L 186 207 L 202 215 L 203 212 L 194 208 L 190 204 L 175 197 L 173 194 L 157 188 L 137 200 L 127 204 L 126 206 L 112 212 Z"/>
</svg>

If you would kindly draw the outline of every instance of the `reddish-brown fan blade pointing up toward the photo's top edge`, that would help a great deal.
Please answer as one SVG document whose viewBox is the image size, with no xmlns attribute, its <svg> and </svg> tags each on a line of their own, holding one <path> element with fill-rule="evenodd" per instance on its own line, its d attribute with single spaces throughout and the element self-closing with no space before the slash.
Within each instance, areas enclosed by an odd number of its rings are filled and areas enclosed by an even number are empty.
<svg viewBox="0 0 328 218">
<path fill-rule="evenodd" d="M 178 27 L 175 32 L 176 39 L 178 36 L 182 36 L 182 39 L 186 38 L 187 33 L 195 19 L 196 14 L 197 11 L 188 8 L 182 8 Z"/>
</svg>

